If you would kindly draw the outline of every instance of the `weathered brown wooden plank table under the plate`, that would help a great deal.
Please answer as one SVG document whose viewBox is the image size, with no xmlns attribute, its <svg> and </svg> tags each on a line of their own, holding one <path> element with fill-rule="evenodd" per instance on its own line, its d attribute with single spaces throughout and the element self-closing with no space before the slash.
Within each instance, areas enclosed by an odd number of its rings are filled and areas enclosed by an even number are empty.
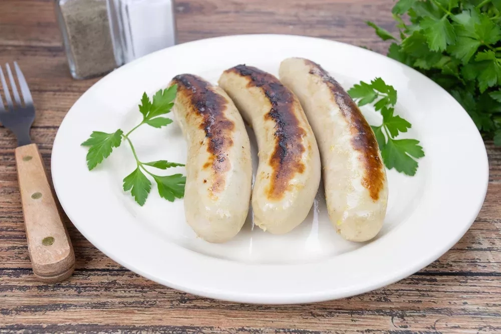
<svg viewBox="0 0 501 334">
<path fill-rule="evenodd" d="M 298 34 L 384 52 L 387 43 L 364 21 L 394 30 L 391 6 L 391 0 L 179 0 L 178 37 Z M 59 124 L 97 80 L 70 78 L 52 0 L 0 1 L 0 64 L 14 60 L 37 108 L 32 137 L 50 166 Z M 490 182 L 483 208 L 445 255 L 385 288 L 294 306 L 222 302 L 161 286 L 106 257 L 67 218 L 75 273 L 60 284 L 38 282 L 26 246 L 15 146 L 0 128 L 0 332 L 501 332 L 501 149 L 492 143 L 486 143 Z"/>
</svg>

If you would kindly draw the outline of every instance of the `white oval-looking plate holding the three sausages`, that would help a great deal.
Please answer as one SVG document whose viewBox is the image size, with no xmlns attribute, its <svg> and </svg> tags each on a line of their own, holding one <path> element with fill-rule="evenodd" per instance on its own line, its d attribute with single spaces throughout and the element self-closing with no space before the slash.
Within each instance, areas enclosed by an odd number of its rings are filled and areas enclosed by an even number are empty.
<svg viewBox="0 0 501 334">
<path fill-rule="evenodd" d="M 343 240 L 330 225 L 323 189 L 298 228 L 275 236 L 253 228 L 252 214 L 225 244 L 196 238 L 185 223 L 183 201 L 160 199 L 154 186 L 143 207 L 122 191 L 135 162 L 127 145 L 89 172 L 87 149 L 94 130 L 128 131 L 140 120 L 144 91 L 165 88 L 180 73 L 216 83 L 237 64 L 275 75 L 287 57 L 321 64 L 346 88 L 382 77 L 398 91 L 397 112 L 412 123 L 426 157 L 414 177 L 388 171 L 384 227 L 367 243 Z M 364 110 L 369 122 L 376 113 Z M 132 135 L 141 160 L 186 161 L 176 123 L 144 126 Z M 256 162 L 255 144 L 253 158 Z M 256 163 L 255 163 L 256 167 Z M 169 170 L 184 172 L 183 168 Z M 395 282 L 442 255 L 466 232 L 483 203 L 488 163 L 482 139 L 461 106 L 418 72 L 382 55 L 321 39 L 247 35 L 168 48 L 107 75 L 66 115 L 52 153 L 52 176 L 71 221 L 106 255 L 167 286 L 202 296 L 252 303 L 300 303 L 351 296 Z"/>
</svg>

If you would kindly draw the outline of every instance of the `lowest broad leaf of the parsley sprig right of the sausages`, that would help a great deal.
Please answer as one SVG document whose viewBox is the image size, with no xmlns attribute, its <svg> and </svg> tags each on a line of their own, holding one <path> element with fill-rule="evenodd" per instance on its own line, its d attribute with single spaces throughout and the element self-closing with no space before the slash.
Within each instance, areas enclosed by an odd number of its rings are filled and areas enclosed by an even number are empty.
<svg viewBox="0 0 501 334">
<path fill-rule="evenodd" d="M 424 151 L 418 140 L 388 138 L 381 156 L 388 169 L 395 168 L 400 173 L 414 176 L 418 166 L 414 158 L 424 157 Z"/>
</svg>

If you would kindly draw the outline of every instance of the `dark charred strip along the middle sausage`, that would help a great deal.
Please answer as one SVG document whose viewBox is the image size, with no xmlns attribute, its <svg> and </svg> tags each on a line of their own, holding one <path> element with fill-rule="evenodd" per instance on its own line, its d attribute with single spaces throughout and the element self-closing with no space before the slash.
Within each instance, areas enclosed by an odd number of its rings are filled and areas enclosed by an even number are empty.
<svg viewBox="0 0 501 334">
<path fill-rule="evenodd" d="M 254 67 L 238 65 L 227 70 L 248 78 L 247 87 L 259 87 L 272 105 L 265 114 L 266 120 L 275 122 L 275 149 L 270 157 L 273 169 L 268 197 L 279 200 L 289 188 L 289 183 L 296 173 L 303 173 L 305 165 L 302 156 L 305 152 L 303 137 L 305 129 L 300 126 L 294 108 L 297 99 L 273 75 Z"/>
</svg>

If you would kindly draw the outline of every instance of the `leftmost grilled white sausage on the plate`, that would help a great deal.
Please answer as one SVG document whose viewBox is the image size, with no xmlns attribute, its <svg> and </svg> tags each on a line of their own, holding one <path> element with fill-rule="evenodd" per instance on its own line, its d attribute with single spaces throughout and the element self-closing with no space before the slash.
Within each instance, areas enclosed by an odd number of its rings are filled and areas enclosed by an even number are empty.
<svg viewBox="0 0 501 334">
<path fill-rule="evenodd" d="M 173 111 L 188 141 L 184 211 L 209 242 L 235 236 L 247 217 L 252 187 L 250 144 L 243 120 L 224 91 L 200 77 L 174 77 Z"/>
</svg>

